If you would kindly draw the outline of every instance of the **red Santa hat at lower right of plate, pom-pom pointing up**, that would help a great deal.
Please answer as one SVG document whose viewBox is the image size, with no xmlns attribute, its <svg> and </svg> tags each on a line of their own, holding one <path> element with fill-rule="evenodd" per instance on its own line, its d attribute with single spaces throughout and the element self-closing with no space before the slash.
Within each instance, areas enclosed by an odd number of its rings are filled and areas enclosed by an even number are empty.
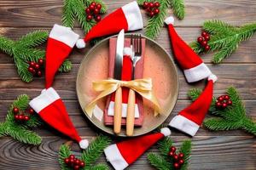
<svg viewBox="0 0 256 170">
<path fill-rule="evenodd" d="M 208 77 L 207 87 L 189 107 L 180 111 L 177 116 L 172 118 L 169 126 L 175 127 L 183 133 L 195 136 L 201 123 L 212 104 L 213 83 L 217 81 L 215 75 Z"/>
</svg>

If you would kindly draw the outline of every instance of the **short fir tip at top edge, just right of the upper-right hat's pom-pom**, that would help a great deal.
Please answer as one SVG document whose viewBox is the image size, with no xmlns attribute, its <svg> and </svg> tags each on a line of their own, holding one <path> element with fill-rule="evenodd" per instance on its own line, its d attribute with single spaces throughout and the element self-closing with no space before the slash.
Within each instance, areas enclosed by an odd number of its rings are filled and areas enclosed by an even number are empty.
<svg viewBox="0 0 256 170">
<path fill-rule="evenodd" d="M 177 16 L 179 20 L 183 20 L 185 16 L 185 5 L 183 0 L 172 0 L 171 6 L 173 13 Z"/>
</svg>

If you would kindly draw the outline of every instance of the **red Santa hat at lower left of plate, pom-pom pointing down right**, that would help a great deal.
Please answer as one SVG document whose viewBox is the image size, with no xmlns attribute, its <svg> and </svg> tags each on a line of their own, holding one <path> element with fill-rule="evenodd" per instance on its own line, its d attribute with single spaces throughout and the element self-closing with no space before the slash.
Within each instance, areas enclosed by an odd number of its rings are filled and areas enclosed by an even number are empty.
<svg viewBox="0 0 256 170">
<path fill-rule="evenodd" d="M 76 140 L 82 149 L 87 148 L 88 141 L 81 139 L 79 136 L 67 114 L 64 103 L 54 88 L 44 89 L 38 97 L 30 101 L 29 105 L 44 122 L 47 122 L 51 127 L 66 134 L 71 139 Z"/>
</svg>

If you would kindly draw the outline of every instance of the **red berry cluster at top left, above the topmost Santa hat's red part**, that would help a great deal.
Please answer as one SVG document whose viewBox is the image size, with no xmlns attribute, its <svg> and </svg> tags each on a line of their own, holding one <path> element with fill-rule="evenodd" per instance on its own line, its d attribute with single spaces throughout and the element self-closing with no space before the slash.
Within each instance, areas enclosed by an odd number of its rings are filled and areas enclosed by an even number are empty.
<svg viewBox="0 0 256 170">
<path fill-rule="evenodd" d="M 87 14 L 86 20 L 92 20 L 93 18 L 97 22 L 102 20 L 102 17 L 100 15 L 101 8 L 102 8 L 101 3 L 95 3 L 95 2 L 90 3 L 90 6 L 85 9 L 85 12 Z"/>
</svg>

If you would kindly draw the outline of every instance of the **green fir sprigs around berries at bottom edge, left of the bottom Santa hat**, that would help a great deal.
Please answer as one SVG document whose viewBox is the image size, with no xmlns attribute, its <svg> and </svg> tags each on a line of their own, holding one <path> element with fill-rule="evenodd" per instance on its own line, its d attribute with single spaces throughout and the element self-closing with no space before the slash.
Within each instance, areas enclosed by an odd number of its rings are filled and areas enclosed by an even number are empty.
<svg viewBox="0 0 256 170">
<path fill-rule="evenodd" d="M 82 152 L 82 155 L 78 157 L 84 161 L 84 170 L 108 170 L 108 166 L 105 164 L 94 165 L 95 161 L 102 156 L 103 150 L 110 144 L 110 139 L 107 136 L 99 135 L 94 141 L 92 141 L 89 147 Z M 62 170 L 72 169 L 67 167 L 64 159 L 71 155 L 71 150 L 66 144 L 62 144 L 59 151 L 59 162 Z"/>
</svg>

